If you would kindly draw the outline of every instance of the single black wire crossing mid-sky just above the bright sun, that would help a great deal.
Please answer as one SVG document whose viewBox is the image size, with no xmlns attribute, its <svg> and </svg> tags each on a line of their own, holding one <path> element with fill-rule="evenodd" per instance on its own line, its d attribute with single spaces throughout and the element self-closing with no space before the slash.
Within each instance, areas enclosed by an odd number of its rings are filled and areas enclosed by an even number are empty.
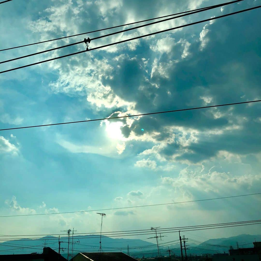
<svg viewBox="0 0 261 261">
<path fill-rule="evenodd" d="M 71 121 L 71 122 L 62 122 L 62 123 L 51 123 L 51 124 L 43 124 L 43 125 L 33 125 L 33 126 L 26 126 L 26 127 L 7 128 L 7 129 L 0 129 L 0 131 L 8 131 L 8 130 L 14 130 L 14 129 L 27 129 L 27 128 L 35 128 L 35 127 L 46 127 L 46 126 L 54 126 L 54 125 L 62 125 L 62 124 L 71 124 L 71 123 L 80 123 L 80 122 L 90 122 L 90 121 L 103 121 L 103 120 L 111 120 L 111 119 L 120 119 L 120 118 L 129 118 L 129 117 L 137 117 L 137 116 L 145 116 L 145 115 L 162 114 L 162 113 L 169 113 L 169 112 L 178 112 L 178 111 L 188 111 L 188 110 L 206 109 L 206 108 L 229 106 L 229 105 L 237 105 L 237 104 L 244 104 L 244 103 L 253 103 L 253 102 L 261 102 L 261 100 L 252 100 L 252 101 L 248 101 L 248 102 L 237 102 L 237 103 L 227 103 L 227 104 L 220 104 L 220 105 L 210 105 L 210 106 L 194 107 L 194 108 L 187 108 L 187 109 L 178 109 L 178 110 L 171 110 L 171 111 L 149 112 L 149 113 L 141 113 L 141 114 L 118 116 L 118 117 L 110 117 L 110 118 L 100 118 L 100 119 L 94 119 L 94 120 Z M 47 215 L 47 214 L 46 214 L 46 215 Z M 1 217 L 1 216 L 0 216 L 0 217 Z"/>
</svg>

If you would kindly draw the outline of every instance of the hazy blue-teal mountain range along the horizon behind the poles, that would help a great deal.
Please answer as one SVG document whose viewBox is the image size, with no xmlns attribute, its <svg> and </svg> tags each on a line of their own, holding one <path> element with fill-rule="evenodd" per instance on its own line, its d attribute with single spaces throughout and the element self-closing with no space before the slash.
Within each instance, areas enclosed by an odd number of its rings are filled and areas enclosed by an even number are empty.
<svg viewBox="0 0 261 261">
<path fill-rule="evenodd" d="M 197 236 L 189 236 L 188 241 L 186 242 L 187 254 L 213 254 L 213 253 L 228 253 L 230 246 L 237 248 L 237 243 L 239 247 L 253 247 L 253 242 L 261 241 L 261 235 L 247 235 L 242 234 L 238 236 L 232 236 L 229 238 L 217 238 L 217 239 L 208 239 L 204 241 L 204 238 Z M 60 238 L 63 243 L 61 247 L 65 248 L 64 251 L 61 251 L 61 254 L 67 258 L 67 249 L 68 249 L 68 239 Z M 78 252 L 97 252 L 99 249 L 100 238 L 97 235 L 83 235 L 83 236 L 74 236 L 74 254 Z M 70 239 L 70 254 L 72 249 L 72 238 Z M 160 241 L 163 242 L 163 241 Z M 40 240 L 35 239 L 17 239 L 10 240 L 0 243 L 0 254 L 21 254 L 21 253 L 32 253 L 43 251 L 44 245 L 51 247 L 52 249 L 58 252 L 58 238 L 54 236 L 46 236 Z M 155 257 L 158 255 L 158 249 L 156 244 L 147 242 L 140 239 L 126 239 L 126 238 L 109 238 L 102 237 L 102 249 L 104 252 L 112 251 L 122 251 L 127 253 L 127 246 L 129 245 L 129 252 L 131 256 L 135 257 Z M 183 243 L 182 243 L 183 245 Z M 22 248 L 21 248 L 22 247 Z M 173 244 L 169 246 L 172 250 L 172 255 L 180 255 L 180 244 Z M 168 248 L 160 247 L 162 256 L 167 256 Z"/>
</svg>

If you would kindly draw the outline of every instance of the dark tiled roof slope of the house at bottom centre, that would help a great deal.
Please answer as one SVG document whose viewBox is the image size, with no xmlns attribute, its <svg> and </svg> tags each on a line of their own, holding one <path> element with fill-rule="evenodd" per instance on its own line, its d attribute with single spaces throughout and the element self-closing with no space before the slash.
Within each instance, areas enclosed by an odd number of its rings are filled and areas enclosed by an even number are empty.
<svg viewBox="0 0 261 261">
<path fill-rule="evenodd" d="M 103 252 L 103 253 L 81 253 L 93 261 L 135 261 L 137 259 L 130 257 L 124 253 Z M 88 260 L 86 258 L 86 260 Z"/>
</svg>

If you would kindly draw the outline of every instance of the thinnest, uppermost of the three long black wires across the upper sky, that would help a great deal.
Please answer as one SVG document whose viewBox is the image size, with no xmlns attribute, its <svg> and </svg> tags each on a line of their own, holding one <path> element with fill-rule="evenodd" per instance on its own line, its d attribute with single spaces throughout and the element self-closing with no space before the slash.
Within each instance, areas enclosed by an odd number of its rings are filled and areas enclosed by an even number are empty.
<svg viewBox="0 0 261 261">
<path fill-rule="evenodd" d="M 10 0 L 10 1 L 11 1 L 11 0 Z M 233 2 L 231 2 L 231 3 L 233 3 Z M 214 6 L 216 6 L 216 5 L 212 5 L 212 7 L 214 7 Z M 206 8 L 209 8 L 209 7 L 202 7 L 202 8 L 198 8 L 198 9 L 194 9 L 194 10 L 184 11 L 184 12 L 181 12 L 181 13 L 159 16 L 159 17 L 156 17 L 156 18 L 146 19 L 146 20 L 142 20 L 142 21 L 138 21 L 138 22 L 126 23 L 126 24 L 124 24 L 124 25 L 117 25 L 117 26 L 107 27 L 107 28 L 104 28 L 104 29 L 98 29 L 98 30 L 95 30 L 95 31 L 90 31 L 90 32 L 85 32 L 85 33 L 79 33 L 79 34 L 64 36 L 64 37 L 60 37 L 60 38 L 56 38 L 56 39 L 41 41 L 41 42 L 37 42 L 37 43 L 25 44 L 25 45 L 20 45 L 20 46 L 16 46 L 16 47 L 6 48 L 6 49 L 0 50 L 0 52 L 1 52 L 1 51 L 5 51 L 5 50 L 15 49 L 15 48 L 20 48 L 20 47 L 35 45 L 35 44 L 46 43 L 46 42 L 50 42 L 50 41 L 56 41 L 56 40 L 60 40 L 60 39 L 64 39 L 64 38 L 69 38 L 69 37 L 74 37 L 74 36 L 78 36 L 78 35 L 83 35 L 83 34 L 89 34 L 89 33 L 95 33 L 95 32 L 105 31 L 105 30 L 114 29 L 114 28 L 117 28 L 117 27 L 123 27 L 123 26 L 133 25 L 133 24 L 136 24 L 136 23 L 142 23 L 142 22 L 152 21 L 152 20 L 156 20 L 156 19 L 161 19 L 161 18 L 169 17 L 169 16 L 174 16 L 174 15 L 180 15 L 180 14 L 190 13 L 190 12 L 194 12 L 194 11 L 198 11 L 198 10 L 203 10 L 203 9 L 206 9 Z"/>
</svg>

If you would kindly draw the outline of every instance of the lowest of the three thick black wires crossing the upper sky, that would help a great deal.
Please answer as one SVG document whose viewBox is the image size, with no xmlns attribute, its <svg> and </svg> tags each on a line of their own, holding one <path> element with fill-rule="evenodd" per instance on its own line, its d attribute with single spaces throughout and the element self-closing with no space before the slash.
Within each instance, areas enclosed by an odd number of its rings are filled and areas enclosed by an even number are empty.
<svg viewBox="0 0 261 261">
<path fill-rule="evenodd" d="M 145 34 L 145 35 L 129 38 L 129 39 L 126 39 L 126 40 L 115 42 L 115 43 L 105 44 L 105 45 L 98 46 L 98 47 L 95 47 L 95 48 L 92 48 L 92 49 L 87 49 L 87 50 L 84 50 L 84 51 L 79 51 L 79 52 L 75 52 L 75 53 L 72 53 L 72 54 L 62 55 L 62 56 L 51 58 L 51 59 L 48 59 L 48 60 L 44 60 L 44 61 L 40 61 L 40 62 L 36 62 L 36 63 L 31 63 L 31 64 L 27 64 L 27 65 L 23 65 L 23 66 L 20 66 L 20 67 L 16 67 L 16 68 L 12 68 L 12 69 L 8 69 L 8 70 L 5 70 L 5 71 L 2 71 L 2 72 L 0 72 L 0 74 L 1 73 L 6 73 L 6 72 L 10 72 L 10 71 L 13 71 L 13 70 L 17 70 L 17 69 L 21 69 L 21 68 L 25 68 L 25 67 L 29 67 L 29 66 L 33 66 L 33 65 L 36 65 L 36 64 L 41 64 L 41 63 L 45 63 L 45 62 L 54 61 L 54 60 L 57 60 L 57 59 L 60 59 L 60 58 L 64 58 L 64 57 L 68 57 L 68 56 L 72 56 L 72 55 L 76 55 L 76 54 L 81 54 L 81 53 L 88 52 L 88 51 L 93 51 L 93 50 L 105 48 L 105 47 L 116 45 L 116 44 L 125 43 L 127 41 L 132 41 L 132 40 L 144 38 L 144 37 L 147 37 L 147 36 L 150 36 L 150 35 L 155 35 L 155 34 L 158 34 L 158 33 L 168 32 L 168 31 L 171 31 L 171 30 L 174 30 L 174 29 L 178 29 L 178 28 L 183 28 L 183 27 L 187 27 L 187 26 L 191 26 L 191 25 L 196 25 L 198 23 L 203 23 L 203 22 L 207 22 L 207 21 L 211 21 L 211 20 L 216 20 L 216 19 L 219 19 L 219 18 L 222 18 L 222 17 L 243 13 L 243 12 L 254 10 L 254 9 L 257 9 L 257 8 L 260 8 L 260 7 L 261 7 L 261 5 L 258 5 L 256 7 L 240 10 L 240 11 L 237 11 L 237 12 L 234 12 L 234 13 L 229 13 L 229 14 L 225 14 L 225 15 L 221 15 L 221 16 L 216 16 L 216 17 L 212 17 L 212 18 L 209 18 L 209 19 L 205 19 L 205 20 L 201 20 L 201 21 L 197 21 L 197 22 L 193 22 L 193 23 L 188 23 L 186 25 L 176 26 L 176 27 L 165 29 L 165 30 L 162 30 L 162 31 L 158 31 L 158 32 L 154 32 L 154 33 L 149 33 L 149 34 Z"/>
</svg>

